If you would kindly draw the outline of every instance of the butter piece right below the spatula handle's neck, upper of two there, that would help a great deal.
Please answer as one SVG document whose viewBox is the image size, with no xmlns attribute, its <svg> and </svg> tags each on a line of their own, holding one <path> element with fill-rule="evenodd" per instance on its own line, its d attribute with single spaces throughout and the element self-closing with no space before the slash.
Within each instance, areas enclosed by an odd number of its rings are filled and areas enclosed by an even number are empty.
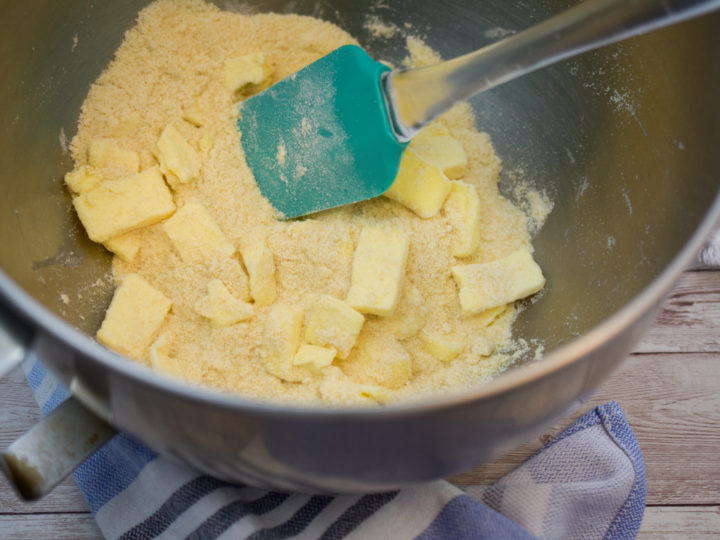
<svg viewBox="0 0 720 540">
<path fill-rule="evenodd" d="M 465 150 L 440 123 L 433 123 L 421 129 L 412 138 L 408 148 L 423 161 L 440 168 L 448 178 L 462 178 L 465 175 L 467 167 Z"/>
</svg>

